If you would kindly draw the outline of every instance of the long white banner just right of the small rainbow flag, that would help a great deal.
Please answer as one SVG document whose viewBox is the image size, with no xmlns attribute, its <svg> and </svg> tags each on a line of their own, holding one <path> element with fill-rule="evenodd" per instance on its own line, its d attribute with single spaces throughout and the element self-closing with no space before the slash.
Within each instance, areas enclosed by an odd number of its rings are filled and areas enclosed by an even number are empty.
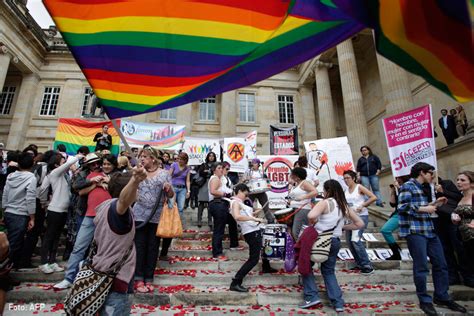
<svg viewBox="0 0 474 316">
<path fill-rule="evenodd" d="M 121 120 L 122 131 L 130 147 L 150 145 L 155 149 L 179 150 L 184 143 L 184 125 L 150 124 Z"/>
</svg>

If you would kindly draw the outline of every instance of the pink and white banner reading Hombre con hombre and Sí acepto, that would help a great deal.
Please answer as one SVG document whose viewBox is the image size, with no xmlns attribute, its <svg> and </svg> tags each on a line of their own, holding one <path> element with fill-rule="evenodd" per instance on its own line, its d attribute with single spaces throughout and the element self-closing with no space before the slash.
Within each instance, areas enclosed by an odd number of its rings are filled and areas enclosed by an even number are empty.
<svg viewBox="0 0 474 316">
<path fill-rule="evenodd" d="M 431 105 L 384 118 L 383 128 L 394 177 L 409 174 L 417 162 L 438 169 Z"/>
</svg>

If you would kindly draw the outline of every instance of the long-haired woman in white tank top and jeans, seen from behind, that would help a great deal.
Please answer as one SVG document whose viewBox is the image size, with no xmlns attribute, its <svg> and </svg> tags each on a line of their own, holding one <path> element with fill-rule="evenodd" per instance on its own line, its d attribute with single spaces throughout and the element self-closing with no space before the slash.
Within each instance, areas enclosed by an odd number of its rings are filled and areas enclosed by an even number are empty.
<svg viewBox="0 0 474 316">
<path fill-rule="evenodd" d="M 344 300 L 335 274 L 337 254 L 341 248 L 339 237 L 342 235 L 342 229 L 359 229 L 364 226 L 364 222 L 347 205 L 344 191 L 339 182 L 328 180 L 324 182 L 323 188 L 325 199 L 317 203 L 308 213 L 308 220 L 318 232 L 332 229 L 337 225 L 333 233 L 328 259 L 321 263 L 320 268 L 326 285 L 326 292 L 333 308 L 336 312 L 343 312 Z M 352 224 L 344 225 L 345 218 L 350 219 Z M 300 307 L 309 308 L 321 304 L 314 274 L 311 273 L 302 276 L 302 278 L 305 303 Z"/>
</svg>

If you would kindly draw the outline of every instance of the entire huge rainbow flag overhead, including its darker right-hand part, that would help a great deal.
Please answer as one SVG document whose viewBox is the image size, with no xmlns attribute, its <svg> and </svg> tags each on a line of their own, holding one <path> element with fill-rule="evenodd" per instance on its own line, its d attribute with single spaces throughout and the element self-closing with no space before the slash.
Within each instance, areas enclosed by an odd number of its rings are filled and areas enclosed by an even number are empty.
<svg viewBox="0 0 474 316">
<path fill-rule="evenodd" d="M 251 85 L 367 26 L 386 57 L 474 99 L 467 1 L 43 0 L 111 118 Z"/>
</svg>

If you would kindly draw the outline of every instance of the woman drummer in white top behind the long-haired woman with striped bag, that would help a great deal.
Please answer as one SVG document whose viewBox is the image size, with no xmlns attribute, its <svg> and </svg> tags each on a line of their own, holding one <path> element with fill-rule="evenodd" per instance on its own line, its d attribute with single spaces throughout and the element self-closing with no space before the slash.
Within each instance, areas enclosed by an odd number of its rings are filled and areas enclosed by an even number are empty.
<svg viewBox="0 0 474 316">
<path fill-rule="evenodd" d="M 291 170 L 290 178 L 293 182 L 293 187 L 288 194 L 290 207 L 298 210 L 293 219 L 291 231 L 293 238 L 297 240 L 302 225 L 308 225 L 308 213 L 312 208 L 311 199 L 318 195 L 318 191 L 311 182 L 306 180 L 306 170 L 302 167 Z"/>
</svg>

